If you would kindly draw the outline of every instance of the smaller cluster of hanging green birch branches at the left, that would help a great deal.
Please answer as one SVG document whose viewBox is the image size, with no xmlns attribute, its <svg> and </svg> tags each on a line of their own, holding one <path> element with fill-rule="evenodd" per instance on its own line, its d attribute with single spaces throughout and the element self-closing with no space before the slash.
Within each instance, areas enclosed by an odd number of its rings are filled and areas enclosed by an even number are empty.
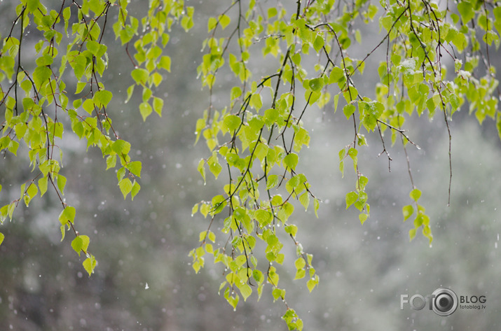
<svg viewBox="0 0 501 331">
<path fill-rule="evenodd" d="M 62 204 L 61 234 L 71 230 L 71 246 L 85 253 L 83 267 L 92 274 L 97 261 L 89 253 L 89 237 L 75 227 L 76 209 L 63 199 L 67 178 L 62 173 L 63 149 L 58 141 L 75 134 L 86 141 L 87 148 L 97 147 L 106 159 L 107 169 L 118 164 L 118 188 L 123 197 L 132 199 L 141 186 L 142 164 L 130 157 L 131 146 L 118 135 L 111 120 L 113 92 L 103 83 L 109 64 L 108 46 L 103 42 L 106 29 L 112 27 L 116 38 L 125 45 L 132 62 L 134 84 L 142 87 L 139 111 L 144 120 L 156 111 L 161 115 L 164 101 L 154 92 L 163 81 L 160 70 L 170 71 L 170 57 L 163 55 L 169 41 L 170 27 L 180 22 L 184 29 L 193 25 L 193 8 L 183 1 L 150 1 L 149 10 L 140 19 L 128 13 L 125 0 L 62 1 L 59 8 L 47 8 L 39 0 L 21 0 L 8 36 L 1 38 L 0 49 L 0 151 L 27 155 L 33 176 L 20 185 L 20 195 L 0 208 L 0 220 L 13 220 L 15 206 L 26 206 L 49 188 Z M 116 22 L 109 23 L 109 17 Z M 31 49 L 23 42 L 27 32 L 36 34 L 35 59 L 27 58 Z M 128 46 L 133 43 L 135 52 Z M 32 66 L 35 64 L 35 66 Z M 76 85 L 76 90 L 68 90 Z M 22 141 L 25 148 L 20 148 Z M 28 166 L 28 164 L 27 164 Z M 1 190 L 1 187 L 0 187 Z M 1 235 L 3 241 L 4 235 Z M 1 243 L 1 241 L 0 241 Z"/>
</svg>

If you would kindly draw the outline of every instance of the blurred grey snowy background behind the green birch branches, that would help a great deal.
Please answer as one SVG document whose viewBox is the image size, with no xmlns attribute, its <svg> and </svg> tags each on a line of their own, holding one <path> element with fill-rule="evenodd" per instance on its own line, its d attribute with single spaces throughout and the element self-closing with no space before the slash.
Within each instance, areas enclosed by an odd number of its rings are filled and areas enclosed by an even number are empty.
<svg viewBox="0 0 501 331">
<path fill-rule="evenodd" d="M 2 36 L 15 19 L 16 2 L 0 2 Z M 284 305 L 273 304 L 269 293 L 259 302 L 254 293 L 233 311 L 217 293 L 221 266 L 207 258 L 205 269 L 195 274 L 190 264 L 188 252 L 198 246 L 198 233 L 209 221 L 200 214 L 191 217 L 191 208 L 217 189 L 212 179 L 203 185 L 196 170 L 200 157 L 208 155 L 203 141 L 194 145 L 195 122 L 208 106 L 196 67 L 204 54 L 200 48 L 207 17 L 228 6 L 227 1 L 191 2 L 195 27 L 188 34 L 174 27 L 165 50 L 173 65 L 157 92 L 166 100 L 162 118 L 153 114 L 143 122 L 137 108 L 140 94 L 124 103 L 132 65 L 109 29 L 105 43 L 111 61 L 103 81 L 114 99 L 108 112 L 119 134 L 132 143 L 131 156 L 143 164 L 142 190 L 134 202 L 124 201 L 114 172 L 104 171 L 99 150 L 85 153 L 85 144 L 72 134 L 61 141 L 65 198 L 76 207 L 76 225 L 90 236 L 99 265 L 89 278 L 81 266 L 84 257 L 78 258 L 70 246 L 73 236 L 60 242 L 60 202 L 52 192 L 29 208 L 18 206 L 14 221 L 1 227 L 6 238 L 0 246 L 0 330 L 287 330 L 280 319 Z M 130 6 L 132 15 L 144 10 L 139 1 Z M 375 24 L 362 30 L 371 48 L 376 45 L 371 43 L 376 41 L 371 37 L 371 29 L 378 31 Z M 26 36 L 26 52 L 37 38 L 35 31 Z M 494 50 L 490 52 L 494 59 Z M 29 62 L 29 53 L 22 56 Z M 276 60 L 268 57 L 273 68 Z M 373 96 L 377 73 L 371 68 L 381 59 L 377 52 L 370 58 L 364 80 L 359 79 L 362 94 Z M 263 65 L 262 74 L 267 72 Z M 217 86 L 216 102 L 224 104 L 230 84 Z M 421 234 L 409 242 L 412 220 L 402 223 L 402 206 L 411 203 L 411 182 L 399 139 L 390 148 L 386 137 L 390 172 L 385 155 L 378 157 L 383 146 L 377 132 L 366 135 L 369 147 L 359 153 L 359 169 L 369 177 L 371 217 L 360 225 L 355 210 L 345 211 L 345 193 L 355 187 L 355 174 L 347 167 L 342 178 L 338 170 L 338 150 L 352 141 L 352 125 L 329 106 L 310 108 L 304 121 L 312 139 L 298 171 L 306 174 L 323 203 L 319 218 L 297 208 L 291 223 L 300 228 L 298 240 L 305 251 L 314 255 L 320 284 L 308 293 L 305 281 L 291 281 L 294 265 L 279 267 L 287 302 L 303 318 L 304 330 L 500 328 L 501 143 L 492 120 L 479 126 L 464 108 L 450 122 L 451 206 L 444 121 L 430 122 L 423 115 L 406 122 L 409 136 L 421 147 L 409 145 L 408 152 L 414 183 L 423 191 L 420 201 L 432 218 L 432 246 Z M 19 183 L 32 178 L 26 161 L 9 153 L 1 160 L 2 205 L 19 194 Z M 285 243 L 284 251 L 294 255 L 292 242 Z M 447 317 L 409 305 L 400 309 L 401 295 L 430 295 L 441 286 L 458 295 L 485 295 L 486 309 L 458 309 Z"/>
</svg>

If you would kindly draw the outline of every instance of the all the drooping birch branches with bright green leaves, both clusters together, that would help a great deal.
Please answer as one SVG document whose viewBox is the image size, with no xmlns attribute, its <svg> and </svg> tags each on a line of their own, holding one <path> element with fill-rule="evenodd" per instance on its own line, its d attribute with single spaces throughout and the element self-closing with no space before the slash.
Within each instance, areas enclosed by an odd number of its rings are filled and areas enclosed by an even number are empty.
<svg viewBox="0 0 501 331">
<path fill-rule="evenodd" d="M 84 0 L 62 1 L 48 9 L 39 0 L 22 0 L 0 52 L 0 106 L 5 114 L 0 150 L 5 157 L 11 153 L 20 158 L 20 169 L 31 167 L 33 173 L 20 174 L 19 192 L 4 188 L 9 199 L 0 209 L 1 222 L 12 220 L 21 202 L 29 206 L 37 195 L 55 192 L 62 207 L 62 239 L 67 230 L 74 233 L 71 247 L 86 256 L 83 267 L 89 275 L 97 263 L 88 250 L 90 237 L 77 231 L 76 208 L 63 198 L 72 180 L 61 169 L 64 146 L 71 141 L 67 132 L 84 139 L 87 149 L 97 146 L 107 169 L 115 169 L 118 159 L 117 181 L 124 198 L 137 195 L 137 178 L 143 172 L 142 162 L 130 156 L 133 147 L 112 125 L 109 105 L 115 91 L 103 83 L 111 62 L 104 36 L 111 27 L 124 46 L 124 56 L 132 64 L 125 102 L 141 89 L 139 113 L 146 121 L 153 111 L 162 115 L 165 97 L 159 85 L 163 71 L 172 66 L 163 48 L 170 42 L 172 24 L 186 31 L 195 24 L 194 8 L 184 1 L 152 0 L 139 15 L 131 15 L 130 6 L 128 1 Z M 359 24 L 371 25 L 376 18 L 385 33 L 369 47 Z M 409 143 L 419 147 L 404 124 L 414 113 L 425 111 L 430 118 L 443 118 L 449 139 L 450 196 L 453 113 L 468 101 L 469 112 L 480 123 L 494 118 L 501 132 L 498 81 L 489 56 L 493 44 L 500 44 L 501 10 L 493 3 L 467 0 L 455 8 L 418 0 L 383 1 L 380 6 L 370 1 L 345 6 L 334 0 L 277 6 L 233 1 L 209 17 L 207 29 L 198 75 L 209 100 L 194 126 L 196 140 L 203 136 L 211 154 L 200 160 L 198 171 L 204 181 L 206 168 L 215 178 L 221 173 L 228 177 L 219 179 L 221 188 L 211 199 L 193 206 L 193 214 L 200 211 L 210 217 L 200 232 L 200 246 L 190 253 L 193 269 L 204 267 L 206 254 L 221 262 L 225 271 L 219 290 L 234 309 L 240 297 L 247 300 L 254 289 L 261 297 L 269 284 L 273 300 L 284 302 L 287 327 L 301 330 L 301 318 L 278 286 L 275 265 L 290 262 L 295 279 L 306 278 L 310 291 L 319 282 L 313 255 L 303 251 L 296 239 L 298 227 L 288 221 L 296 207 L 313 205 L 316 214 L 320 206 L 306 174 L 299 171 L 303 146 L 310 144 L 303 122 L 308 109 L 316 104 L 336 112 L 341 105 L 353 127 L 353 138 L 338 152 L 338 167 L 343 175 L 345 164 L 353 167 L 355 188 L 345 195 L 345 204 L 346 209 L 355 206 L 362 224 L 370 211 L 369 178 L 358 162 L 359 150 L 369 139 L 364 133 L 380 139 L 380 155 L 387 157 L 389 170 L 392 158 L 385 133 L 392 145 L 397 139 L 402 142 L 411 180 L 411 204 L 403 207 L 403 217 L 413 218 L 411 240 L 422 230 L 431 244 L 430 217 L 420 202 L 422 192 L 413 180 L 407 151 Z M 36 33 L 29 39 L 37 54 L 34 61 L 22 58 L 29 32 Z M 385 54 L 385 61 L 378 65 L 379 81 L 374 97 L 369 97 L 357 86 L 366 62 L 378 52 Z M 221 76 L 229 83 L 221 82 Z M 67 92 L 70 87 L 74 94 Z M 20 146 L 22 140 L 25 146 Z M 227 216 L 221 224 L 223 213 Z M 282 253 L 284 237 L 296 248 L 291 256 Z M 3 240 L 0 233 L 0 244 Z"/>
</svg>

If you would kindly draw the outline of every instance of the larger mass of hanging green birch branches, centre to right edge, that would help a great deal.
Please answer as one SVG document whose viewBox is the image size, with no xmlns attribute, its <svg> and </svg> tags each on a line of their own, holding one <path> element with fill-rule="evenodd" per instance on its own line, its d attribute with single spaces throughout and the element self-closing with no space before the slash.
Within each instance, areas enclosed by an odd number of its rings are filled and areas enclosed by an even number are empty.
<svg viewBox="0 0 501 331">
<path fill-rule="evenodd" d="M 409 146 L 420 147 L 407 134 L 406 118 L 427 113 L 431 119 L 439 114 L 450 142 L 451 116 L 467 101 L 479 123 L 493 118 L 501 132 L 497 79 L 488 57 L 489 48 L 500 44 L 500 13 L 492 3 L 469 0 L 459 1 L 457 11 L 451 3 L 440 8 L 437 3 L 417 0 L 343 5 L 331 0 L 297 1 L 294 10 L 233 1 L 222 13 L 210 17 L 198 74 L 211 97 L 195 133 L 197 141 L 203 136 L 211 154 L 200 160 L 198 170 L 204 181 L 206 167 L 215 178 L 224 172 L 228 176 L 212 201 L 193 207 L 193 213 L 200 209 L 210 218 L 208 230 L 200 234 L 200 247 L 191 251 L 195 271 L 204 266 L 205 253 L 210 253 L 214 262 L 225 266 L 221 290 L 225 289 L 224 296 L 233 307 L 239 299 L 236 290 L 246 300 L 256 283 L 261 296 L 261 274 L 270 283 L 273 298 L 285 302 L 284 290 L 277 287 L 279 270 L 273 263 L 281 265 L 287 260 L 281 253 L 282 237 L 289 235 L 298 248 L 296 279 L 307 276 L 308 288 L 316 286 L 311 255 L 296 241 L 298 227 L 291 223 L 294 200 L 308 209 L 313 199 L 315 213 L 320 205 L 306 174 L 299 171 L 301 149 L 310 143 L 302 119 L 313 105 L 334 113 L 341 106 L 354 128 L 353 139 L 338 153 L 339 169 L 344 176 L 346 162 L 353 165 L 355 189 L 345 195 L 345 202 L 347 209 L 355 206 L 359 211 L 362 224 L 370 211 L 369 178 L 358 163 L 359 153 L 367 146 L 365 135 L 376 134 L 380 139 L 380 155 L 387 157 L 390 171 L 388 140 L 392 147 L 397 141 L 402 143 L 412 200 L 403 208 L 404 220 L 416 215 L 410 239 L 422 230 L 431 243 L 430 217 L 420 204 L 421 192 L 413 182 L 407 153 Z M 357 24 L 377 22 L 381 37 L 369 48 L 370 42 L 362 41 Z M 362 57 L 350 48 L 353 43 L 365 46 Z M 357 81 L 366 71 L 366 60 L 379 48 L 386 52 L 385 60 L 375 68 L 379 82 L 373 97 L 362 95 Z M 452 70 L 444 57 L 454 64 Z M 249 70 L 253 59 L 273 63 L 271 71 L 254 78 Z M 234 83 L 228 88 L 227 106 L 215 109 L 212 94 L 223 76 L 218 75 L 220 71 L 233 74 Z M 218 220 L 227 244 L 214 249 L 218 235 L 211 229 Z M 211 243 L 206 241 L 209 234 Z M 264 246 L 256 245 L 260 240 Z M 258 264 L 256 252 L 261 247 L 264 258 L 259 261 L 264 260 L 264 266 Z M 287 302 L 285 305 L 283 318 L 289 329 L 301 330 L 301 319 Z"/>
</svg>

